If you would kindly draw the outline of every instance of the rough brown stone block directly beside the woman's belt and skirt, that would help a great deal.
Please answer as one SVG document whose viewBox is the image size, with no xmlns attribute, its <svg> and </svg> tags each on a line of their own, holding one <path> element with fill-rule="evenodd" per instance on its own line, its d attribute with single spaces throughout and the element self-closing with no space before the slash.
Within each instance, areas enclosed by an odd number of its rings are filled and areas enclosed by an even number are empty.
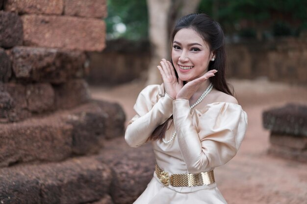
<svg viewBox="0 0 307 204">
<path fill-rule="evenodd" d="M 123 137 L 105 142 L 99 159 L 113 170 L 110 195 L 114 204 L 131 204 L 153 178 L 154 154 L 151 145 L 137 149 L 127 145 Z"/>
</svg>

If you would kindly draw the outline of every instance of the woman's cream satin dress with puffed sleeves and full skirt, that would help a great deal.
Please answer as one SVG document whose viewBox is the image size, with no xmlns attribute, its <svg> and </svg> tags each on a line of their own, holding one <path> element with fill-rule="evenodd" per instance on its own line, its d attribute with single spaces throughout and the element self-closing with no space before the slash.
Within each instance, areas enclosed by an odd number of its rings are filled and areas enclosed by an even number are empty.
<svg viewBox="0 0 307 204">
<path fill-rule="evenodd" d="M 141 91 L 134 110 L 136 115 L 125 134 L 131 147 L 144 144 L 153 130 L 173 114 L 174 123 L 165 133 L 165 140 L 175 130 L 177 136 L 168 144 L 152 142 L 156 163 L 169 174 L 200 173 L 225 164 L 238 151 L 247 128 L 247 115 L 240 105 L 200 103 L 191 110 L 188 100 L 174 100 L 164 92 L 163 85 L 150 85 Z M 165 187 L 153 173 L 153 179 L 134 204 L 226 204 L 226 201 L 216 183 Z"/>
</svg>

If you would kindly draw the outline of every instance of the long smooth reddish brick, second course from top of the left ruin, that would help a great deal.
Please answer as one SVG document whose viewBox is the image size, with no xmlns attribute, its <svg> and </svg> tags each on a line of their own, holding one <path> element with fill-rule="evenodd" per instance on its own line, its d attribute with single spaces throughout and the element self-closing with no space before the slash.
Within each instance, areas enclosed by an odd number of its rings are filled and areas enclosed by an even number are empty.
<svg viewBox="0 0 307 204">
<path fill-rule="evenodd" d="M 104 48 L 105 23 L 69 16 L 24 15 L 24 45 L 86 51 Z"/>
</svg>

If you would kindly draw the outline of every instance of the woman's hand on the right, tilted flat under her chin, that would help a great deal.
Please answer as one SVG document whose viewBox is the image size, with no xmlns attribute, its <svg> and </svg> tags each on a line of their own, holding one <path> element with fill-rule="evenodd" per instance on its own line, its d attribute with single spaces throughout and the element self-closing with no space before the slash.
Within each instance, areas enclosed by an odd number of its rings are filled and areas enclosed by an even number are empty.
<svg viewBox="0 0 307 204">
<path fill-rule="evenodd" d="M 203 82 L 205 82 L 209 77 L 215 76 L 214 73 L 216 73 L 216 69 L 212 69 L 208 72 L 206 72 L 203 76 L 194 79 L 193 81 L 190 81 L 186 83 L 182 89 L 177 93 L 176 99 L 187 99 L 189 100 L 192 95 L 198 90 L 198 88 L 201 86 Z M 178 79 L 180 82 L 181 80 Z"/>
</svg>

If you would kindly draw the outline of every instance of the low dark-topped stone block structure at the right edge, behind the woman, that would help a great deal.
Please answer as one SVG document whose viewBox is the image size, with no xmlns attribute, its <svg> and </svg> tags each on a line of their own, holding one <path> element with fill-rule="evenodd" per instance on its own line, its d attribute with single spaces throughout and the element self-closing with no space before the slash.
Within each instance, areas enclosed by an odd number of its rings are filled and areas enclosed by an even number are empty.
<svg viewBox="0 0 307 204">
<path fill-rule="evenodd" d="M 262 118 L 271 131 L 269 154 L 307 162 L 307 106 L 288 104 L 265 111 Z"/>
</svg>

